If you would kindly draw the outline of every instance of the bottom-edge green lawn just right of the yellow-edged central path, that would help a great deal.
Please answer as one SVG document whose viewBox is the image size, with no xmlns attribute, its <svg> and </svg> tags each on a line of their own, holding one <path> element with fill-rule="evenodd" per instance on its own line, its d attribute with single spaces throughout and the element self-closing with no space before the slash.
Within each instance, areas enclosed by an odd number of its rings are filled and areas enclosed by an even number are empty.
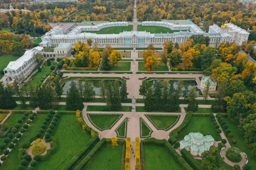
<svg viewBox="0 0 256 170">
<path fill-rule="evenodd" d="M 144 145 L 145 170 L 181 170 L 177 161 L 166 148 Z"/>
</svg>

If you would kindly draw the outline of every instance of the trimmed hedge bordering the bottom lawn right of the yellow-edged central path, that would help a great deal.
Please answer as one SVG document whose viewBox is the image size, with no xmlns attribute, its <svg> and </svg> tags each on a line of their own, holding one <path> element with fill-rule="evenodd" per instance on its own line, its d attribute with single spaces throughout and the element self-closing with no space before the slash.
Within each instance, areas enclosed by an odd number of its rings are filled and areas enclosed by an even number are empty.
<svg viewBox="0 0 256 170">
<path fill-rule="evenodd" d="M 144 144 L 147 145 L 157 145 L 166 148 L 166 151 L 172 155 L 175 161 L 180 165 L 180 169 L 182 170 L 193 170 L 189 164 L 176 152 L 176 150 L 172 147 L 172 145 L 166 141 L 166 139 L 157 140 L 155 138 L 148 138 L 143 140 Z"/>
</svg>

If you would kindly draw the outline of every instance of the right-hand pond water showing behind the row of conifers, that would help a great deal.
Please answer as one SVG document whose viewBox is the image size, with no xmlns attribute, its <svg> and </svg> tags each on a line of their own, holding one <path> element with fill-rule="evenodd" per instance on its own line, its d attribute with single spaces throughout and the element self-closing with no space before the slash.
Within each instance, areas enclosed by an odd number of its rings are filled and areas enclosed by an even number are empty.
<svg viewBox="0 0 256 170">
<path fill-rule="evenodd" d="M 156 81 L 163 82 L 163 80 L 149 80 L 148 82 L 151 83 L 151 86 L 152 86 L 152 87 L 154 87 L 154 82 L 156 82 Z M 201 90 L 199 90 L 199 89 L 197 88 L 197 82 L 196 82 L 195 80 L 169 80 L 169 83 L 170 83 L 170 84 L 173 83 L 173 87 L 174 87 L 175 89 L 177 89 L 177 86 L 178 86 L 177 84 L 178 84 L 179 81 L 183 81 L 183 85 L 188 85 L 189 90 L 190 90 L 191 88 L 195 88 L 197 95 L 203 95 L 202 92 L 201 92 Z M 185 90 L 185 88 L 181 88 L 181 89 L 182 89 L 182 90 Z"/>
</svg>

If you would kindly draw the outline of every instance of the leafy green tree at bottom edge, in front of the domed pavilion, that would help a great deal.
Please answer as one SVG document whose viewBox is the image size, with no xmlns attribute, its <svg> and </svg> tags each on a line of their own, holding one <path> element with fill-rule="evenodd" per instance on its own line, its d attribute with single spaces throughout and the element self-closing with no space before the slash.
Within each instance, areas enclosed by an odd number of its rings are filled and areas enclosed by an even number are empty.
<svg viewBox="0 0 256 170">
<path fill-rule="evenodd" d="M 223 158 L 215 146 L 210 146 L 209 150 L 202 153 L 202 166 L 204 170 L 221 170 L 223 167 Z"/>
</svg>

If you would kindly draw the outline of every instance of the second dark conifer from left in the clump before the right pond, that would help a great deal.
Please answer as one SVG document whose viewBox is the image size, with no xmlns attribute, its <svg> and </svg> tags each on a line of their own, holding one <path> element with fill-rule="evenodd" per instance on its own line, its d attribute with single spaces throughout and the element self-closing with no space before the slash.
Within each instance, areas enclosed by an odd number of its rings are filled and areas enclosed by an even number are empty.
<svg viewBox="0 0 256 170">
<path fill-rule="evenodd" d="M 160 111 L 162 105 L 162 84 L 160 81 L 154 82 L 154 111 Z"/>
</svg>

